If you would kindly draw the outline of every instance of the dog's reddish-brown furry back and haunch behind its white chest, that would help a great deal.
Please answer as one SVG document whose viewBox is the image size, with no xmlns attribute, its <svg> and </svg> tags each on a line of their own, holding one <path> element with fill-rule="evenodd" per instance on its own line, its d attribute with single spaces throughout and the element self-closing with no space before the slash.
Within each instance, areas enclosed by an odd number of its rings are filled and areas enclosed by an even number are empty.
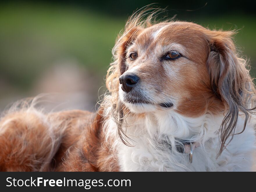
<svg viewBox="0 0 256 192">
<path fill-rule="evenodd" d="M 90 160 L 100 142 L 97 116 L 35 109 L 6 115 L 0 122 L 0 171 L 97 171 Z"/>
</svg>

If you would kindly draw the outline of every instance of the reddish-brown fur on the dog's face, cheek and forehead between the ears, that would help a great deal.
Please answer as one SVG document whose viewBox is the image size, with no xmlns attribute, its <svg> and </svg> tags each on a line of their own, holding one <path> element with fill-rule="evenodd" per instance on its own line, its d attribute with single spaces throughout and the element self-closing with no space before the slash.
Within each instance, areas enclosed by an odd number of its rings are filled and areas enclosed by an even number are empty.
<svg viewBox="0 0 256 192">
<path fill-rule="evenodd" d="M 169 27 L 159 34 L 157 41 L 154 41 L 152 33 L 167 25 Z M 161 89 L 159 91 L 182 96 L 177 112 L 188 117 L 198 117 L 209 109 L 212 113 L 224 110 L 221 100 L 212 92 L 208 68 L 205 65 L 210 52 L 207 31 L 194 23 L 173 22 L 159 23 L 144 31 L 141 29 L 140 33 L 133 35 L 134 44 L 137 45 L 139 54 L 142 52 L 143 55 L 139 64 L 130 64 L 128 69 L 139 65 L 136 73 L 145 82 L 145 86 L 154 85 L 155 89 Z M 181 44 L 186 49 L 187 59 L 181 58 L 181 61 L 171 63 L 174 67 L 177 65 L 180 68 L 179 76 L 183 77 L 182 81 L 168 78 L 162 73 L 162 64 L 150 59 L 158 56 L 154 55 L 155 49 L 173 42 Z"/>
</svg>

